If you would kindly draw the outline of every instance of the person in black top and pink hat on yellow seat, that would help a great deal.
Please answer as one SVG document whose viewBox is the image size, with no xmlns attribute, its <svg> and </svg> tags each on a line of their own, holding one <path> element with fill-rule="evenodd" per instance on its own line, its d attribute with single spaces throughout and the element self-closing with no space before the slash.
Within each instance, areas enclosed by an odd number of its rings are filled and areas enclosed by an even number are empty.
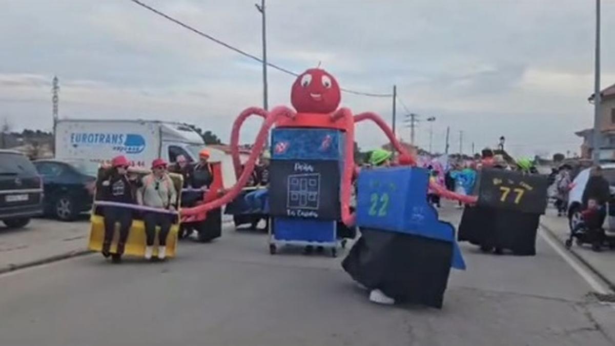
<svg viewBox="0 0 615 346">
<path fill-rule="evenodd" d="M 111 172 L 108 179 L 101 183 L 101 197 L 105 201 L 118 203 L 135 203 L 136 182 L 127 177 L 129 162 L 125 156 L 116 156 L 111 160 Z M 105 206 L 103 209 L 105 216 L 105 239 L 103 240 L 103 256 L 112 256 L 113 262 L 120 262 L 122 254 L 124 254 L 124 246 L 130 225 L 132 224 L 132 209 L 125 207 Z M 117 251 L 111 254 L 111 241 L 115 225 L 119 223 L 119 241 L 117 241 Z"/>
</svg>

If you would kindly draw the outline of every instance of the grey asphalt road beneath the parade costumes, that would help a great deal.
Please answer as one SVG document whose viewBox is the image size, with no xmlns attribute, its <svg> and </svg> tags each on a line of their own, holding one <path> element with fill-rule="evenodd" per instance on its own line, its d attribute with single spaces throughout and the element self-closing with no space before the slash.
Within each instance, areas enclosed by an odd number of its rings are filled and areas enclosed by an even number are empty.
<svg viewBox="0 0 615 346">
<path fill-rule="evenodd" d="M 180 246 L 163 264 L 88 255 L 0 276 L 0 345 L 613 345 L 615 309 L 542 238 L 536 257 L 463 246 L 442 310 L 371 304 L 341 259 L 271 256 L 263 235 Z"/>
</svg>

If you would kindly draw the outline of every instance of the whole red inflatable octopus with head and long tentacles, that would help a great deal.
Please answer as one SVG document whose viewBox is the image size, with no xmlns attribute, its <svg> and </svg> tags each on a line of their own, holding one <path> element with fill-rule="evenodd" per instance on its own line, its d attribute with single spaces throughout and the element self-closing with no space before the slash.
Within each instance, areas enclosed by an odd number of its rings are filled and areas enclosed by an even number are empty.
<svg viewBox="0 0 615 346">
<path fill-rule="evenodd" d="M 258 156 L 263 151 L 264 143 L 269 135 L 269 129 L 274 125 L 277 127 L 319 127 L 339 129 L 346 132 L 344 147 L 346 153 L 344 155 L 344 171 L 341 182 L 341 215 L 342 221 L 347 226 L 354 225 L 354 214 L 350 212 L 350 199 L 352 177 L 358 173 L 354 163 L 355 123 L 368 119 L 376 123 L 384 134 L 387 135 L 395 150 L 399 151 L 399 163 L 416 166 L 416 160 L 395 139 L 389 126 L 376 113 L 365 112 L 353 116 L 349 108 L 338 108 L 341 101 L 341 90 L 338 81 L 327 71 L 320 68 L 311 68 L 301 73 L 293 83 L 290 100 L 295 110 L 285 106 L 278 106 L 271 111 L 250 107 L 240 113 L 233 124 L 231 132 L 231 155 L 237 175 L 237 183 L 218 199 L 196 207 L 182 209 L 181 216 L 183 221 L 205 219 L 208 211 L 231 202 L 241 193 L 242 188 L 248 182 L 254 170 L 256 159 L 258 159 Z M 256 136 L 250 157 L 247 163 L 245 163 L 245 169 L 242 171 L 239 159 L 239 131 L 245 119 L 253 115 L 264 118 L 264 123 Z M 457 195 L 437 184 L 431 184 L 430 187 L 438 195 L 445 198 L 456 199 L 464 203 L 476 202 L 474 196 Z"/>
</svg>

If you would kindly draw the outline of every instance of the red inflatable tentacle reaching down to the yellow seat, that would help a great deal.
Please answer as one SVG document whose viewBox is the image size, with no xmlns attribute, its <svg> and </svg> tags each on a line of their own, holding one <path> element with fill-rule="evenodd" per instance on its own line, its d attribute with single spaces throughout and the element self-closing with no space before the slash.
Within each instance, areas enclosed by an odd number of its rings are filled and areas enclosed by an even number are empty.
<svg viewBox="0 0 615 346">
<path fill-rule="evenodd" d="M 218 209 L 224 204 L 227 204 L 233 199 L 235 199 L 237 195 L 239 195 L 239 193 L 241 192 L 241 189 L 244 188 L 245 184 L 248 182 L 248 179 L 250 179 L 250 175 L 252 175 L 252 171 L 254 170 L 254 166 L 256 164 L 256 159 L 263 150 L 264 143 L 267 139 L 267 136 L 269 135 L 269 129 L 271 129 L 271 127 L 276 123 L 277 119 L 280 116 L 292 116 L 293 114 L 294 112 L 288 107 L 276 107 L 271 110 L 271 112 L 269 112 L 269 115 L 265 118 L 263 126 L 258 132 L 258 136 L 256 136 L 256 142 L 254 144 L 254 147 L 252 148 L 250 157 L 248 158 L 247 163 L 245 163 L 244 170 L 241 172 L 241 175 L 239 176 L 239 179 L 237 180 L 235 185 L 230 190 L 228 190 L 221 198 L 215 199 L 214 201 L 205 204 L 201 204 L 200 206 L 181 209 L 182 220 L 190 220 L 194 217 L 200 219 L 200 217 L 205 215 L 208 211 L 212 209 Z"/>
</svg>

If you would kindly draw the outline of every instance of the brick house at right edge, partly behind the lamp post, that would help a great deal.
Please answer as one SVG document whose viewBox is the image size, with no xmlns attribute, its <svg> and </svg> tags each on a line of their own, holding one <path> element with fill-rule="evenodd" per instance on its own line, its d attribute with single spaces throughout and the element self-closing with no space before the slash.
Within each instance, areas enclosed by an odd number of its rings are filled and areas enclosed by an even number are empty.
<svg viewBox="0 0 615 346">
<path fill-rule="evenodd" d="M 598 128 L 602 134 L 600 143 L 600 159 L 615 161 L 615 84 L 600 92 L 600 116 Z M 594 95 L 589 97 L 593 102 Z M 593 129 L 574 132 L 583 139 L 581 157 L 591 158 L 593 153 Z"/>
</svg>

